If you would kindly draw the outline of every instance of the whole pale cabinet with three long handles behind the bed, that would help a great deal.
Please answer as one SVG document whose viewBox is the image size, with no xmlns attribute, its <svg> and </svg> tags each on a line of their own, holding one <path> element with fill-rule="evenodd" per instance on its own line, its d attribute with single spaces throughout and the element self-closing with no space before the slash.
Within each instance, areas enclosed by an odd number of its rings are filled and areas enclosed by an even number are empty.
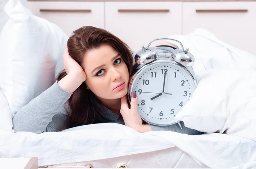
<svg viewBox="0 0 256 169">
<path fill-rule="evenodd" d="M 225 43 L 256 55 L 255 1 L 28 1 L 28 8 L 57 24 L 68 36 L 81 26 L 96 26 L 107 29 L 135 51 L 155 38 L 189 34 L 201 27 Z"/>
</svg>

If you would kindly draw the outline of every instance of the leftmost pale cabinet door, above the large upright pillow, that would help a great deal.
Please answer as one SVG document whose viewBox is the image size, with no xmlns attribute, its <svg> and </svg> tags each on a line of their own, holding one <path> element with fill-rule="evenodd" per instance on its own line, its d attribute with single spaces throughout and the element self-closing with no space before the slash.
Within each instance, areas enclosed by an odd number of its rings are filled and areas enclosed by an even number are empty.
<svg viewBox="0 0 256 169">
<path fill-rule="evenodd" d="M 28 9 L 58 25 L 68 36 L 81 26 L 104 28 L 104 2 L 28 1 Z"/>
</svg>

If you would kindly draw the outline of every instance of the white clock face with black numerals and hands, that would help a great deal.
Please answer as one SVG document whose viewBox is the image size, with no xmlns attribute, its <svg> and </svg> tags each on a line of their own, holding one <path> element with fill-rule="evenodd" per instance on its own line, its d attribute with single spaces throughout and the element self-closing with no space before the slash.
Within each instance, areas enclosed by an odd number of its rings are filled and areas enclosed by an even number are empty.
<svg viewBox="0 0 256 169">
<path fill-rule="evenodd" d="M 192 97 L 192 76 L 173 63 L 154 63 L 140 71 L 133 80 L 131 92 L 138 97 L 138 112 L 151 124 L 176 123 L 175 115 Z"/>
</svg>

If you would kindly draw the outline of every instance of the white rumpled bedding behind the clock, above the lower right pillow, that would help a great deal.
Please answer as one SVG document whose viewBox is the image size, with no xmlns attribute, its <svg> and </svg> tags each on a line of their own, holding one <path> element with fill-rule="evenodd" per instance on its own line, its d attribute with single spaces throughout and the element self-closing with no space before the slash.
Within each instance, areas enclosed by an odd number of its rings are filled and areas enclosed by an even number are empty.
<svg viewBox="0 0 256 169">
<path fill-rule="evenodd" d="M 254 69 L 256 56 L 233 47 L 219 40 L 215 34 L 206 29 L 198 28 L 186 35 L 170 35 L 169 38 L 179 40 L 183 47 L 195 57 L 193 69 L 196 75 L 208 69 Z M 180 47 L 180 44 L 166 40 Z"/>
</svg>

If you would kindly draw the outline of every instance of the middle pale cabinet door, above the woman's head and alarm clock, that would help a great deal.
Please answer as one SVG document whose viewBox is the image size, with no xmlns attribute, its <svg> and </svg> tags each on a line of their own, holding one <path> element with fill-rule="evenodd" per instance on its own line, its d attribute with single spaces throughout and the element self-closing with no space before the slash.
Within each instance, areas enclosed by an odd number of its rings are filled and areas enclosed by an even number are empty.
<svg viewBox="0 0 256 169">
<path fill-rule="evenodd" d="M 155 38 L 181 34 L 182 3 L 105 2 L 105 29 L 138 51 Z"/>
</svg>

